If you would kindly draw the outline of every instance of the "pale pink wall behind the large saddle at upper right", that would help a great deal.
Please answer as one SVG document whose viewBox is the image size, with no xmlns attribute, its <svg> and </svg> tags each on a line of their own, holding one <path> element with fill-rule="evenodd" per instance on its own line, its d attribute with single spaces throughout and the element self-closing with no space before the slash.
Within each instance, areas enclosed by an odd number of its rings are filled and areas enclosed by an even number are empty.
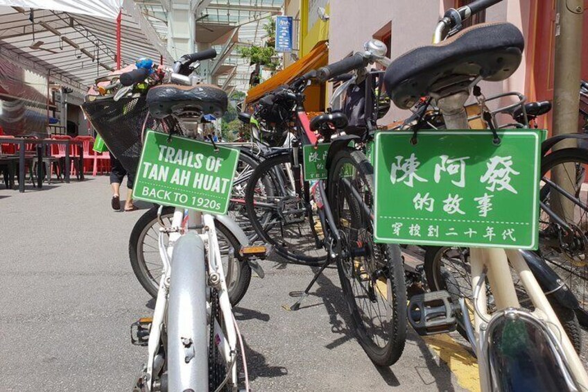
<svg viewBox="0 0 588 392">
<path fill-rule="evenodd" d="M 534 0 L 505 0 L 486 11 L 486 22 L 508 21 L 529 34 L 530 2 Z M 329 32 L 329 62 L 344 58 L 352 51 L 363 49 L 363 42 L 387 23 L 392 22 L 392 60 L 417 46 L 431 44 L 433 30 L 445 9 L 453 0 L 336 0 L 331 1 Z M 526 65 L 503 83 L 481 84 L 486 96 L 505 91 L 525 92 Z M 392 108 L 382 124 L 404 119 L 406 110 Z"/>
</svg>

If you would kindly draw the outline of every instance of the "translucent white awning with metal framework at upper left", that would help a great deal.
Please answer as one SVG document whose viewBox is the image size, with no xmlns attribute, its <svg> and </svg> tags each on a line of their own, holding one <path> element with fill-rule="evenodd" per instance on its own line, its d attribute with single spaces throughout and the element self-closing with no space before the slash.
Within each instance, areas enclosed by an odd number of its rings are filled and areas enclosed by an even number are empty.
<svg viewBox="0 0 588 392">
<path fill-rule="evenodd" d="M 44 9 L 23 6 L 40 3 Z M 164 42 L 132 0 L 0 0 L 0 57 L 85 94 L 116 67 L 116 4 L 121 14 L 121 62 L 147 57 L 171 62 Z M 54 4 L 53 4 L 54 3 Z M 55 9 L 46 9 L 53 4 Z M 110 4 L 110 6 L 108 6 Z M 74 9 L 76 12 L 64 12 Z M 116 11 L 116 14 L 113 12 Z M 107 15 L 97 17 L 92 15 Z M 46 87 L 44 88 L 46 90 Z"/>
</svg>

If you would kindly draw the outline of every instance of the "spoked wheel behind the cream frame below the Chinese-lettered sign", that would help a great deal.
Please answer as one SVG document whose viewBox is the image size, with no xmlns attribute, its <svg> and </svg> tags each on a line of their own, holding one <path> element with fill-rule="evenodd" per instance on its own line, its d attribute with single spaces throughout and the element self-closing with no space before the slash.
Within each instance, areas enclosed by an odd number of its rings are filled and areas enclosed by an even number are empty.
<svg viewBox="0 0 588 392">
<path fill-rule="evenodd" d="M 533 303 L 530 302 L 525 288 L 519 282 L 518 275 L 512 269 L 511 271 L 514 290 L 517 293 L 521 307 L 533 310 Z M 469 265 L 469 248 L 427 247 L 424 257 L 424 272 L 426 282 L 429 284 L 431 291 L 449 291 L 454 303 L 457 303 L 460 297 L 466 298 L 470 316 L 473 315 L 472 270 Z M 487 283 L 486 296 L 488 311 L 492 313 L 494 311 L 494 301 Z M 580 324 L 578 323 L 576 314 L 572 309 L 559 305 L 553 298 L 548 296 L 547 299 L 553 308 L 553 312 L 555 312 L 560 323 L 562 323 L 562 327 L 564 327 L 564 331 L 569 336 L 576 352 L 580 352 L 582 339 L 580 336 Z M 458 332 L 467 339 L 462 325 L 458 325 Z"/>
</svg>

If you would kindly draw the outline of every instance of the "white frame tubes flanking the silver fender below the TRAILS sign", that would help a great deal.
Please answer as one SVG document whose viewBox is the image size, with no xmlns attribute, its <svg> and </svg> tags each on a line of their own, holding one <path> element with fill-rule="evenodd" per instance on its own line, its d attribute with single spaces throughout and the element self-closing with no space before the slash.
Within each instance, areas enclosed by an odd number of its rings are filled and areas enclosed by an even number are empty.
<svg viewBox="0 0 588 392">
<path fill-rule="evenodd" d="M 157 292 L 157 300 L 155 302 L 155 311 L 153 312 L 153 322 L 151 324 L 151 331 L 148 340 L 148 361 L 146 364 L 146 378 L 148 380 L 148 391 L 153 390 L 153 366 L 155 361 L 155 355 L 159 351 L 162 338 L 162 327 L 166 323 L 167 307 L 168 307 L 168 294 L 169 284 L 171 278 L 171 257 L 173 255 L 173 245 L 175 241 L 180 239 L 182 230 L 182 223 L 184 222 L 184 214 L 186 212 L 182 208 L 176 208 L 173 214 L 172 227 L 169 232 L 168 246 L 164 244 L 165 230 L 159 232 L 159 255 L 162 257 L 164 264 L 164 271 L 162 278 L 159 281 L 159 291 Z M 220 306 L 220 314 L 223 318 L 223 324 L 227 334 L 223 332 L 223 329 L 218 325 L 214 316 L 210 314 L 211 308 L 209 301 L 207 302 L 207 316 L 210 321 L 214 320 L 214 336 L 216 345 L 218 346 L 219 352 L 225 360 L 227 369 L 227 382 L 236 385 L 237 379 L 237 368 L 236 363 L 236 347 L 237 347 L 237 332 L 235 328 L 234 316 L 232 314 L 232 307 L 229 300 L 229 291 L 225 282 L 225 271 L 223 270 L 223 263 L 220 257 L 220 248 L 218 246 L 218 238 L 216 237 L 216 228 L 214 225 L 214 216 L 211 214 L 202 214 L 195 210 L 187 210 L 187 225 L 184 229 L 185 232 L 193 231 L 197 226 L 202 223 L 204 225 L 204 232 L 197 233 L 205 244 L 205 255 L 208 264 L 209 276 L 212 273 L 216 273 L 218 277 L 218 284 L 215 284 L 218 290 L 218 302 Z M 208 282 L 208 279 L 206 280 Z M 208 284 L 207 284 L 208 285 Z M 204 332 L 207 333 L 207 332 Z M 209 332 L 208 332 L 209 333 Z M 206 353 L 208 357 L 208 353 Z M 208 380 L 205 380 L 205 384 L 208 384 Z"/>
</svg>

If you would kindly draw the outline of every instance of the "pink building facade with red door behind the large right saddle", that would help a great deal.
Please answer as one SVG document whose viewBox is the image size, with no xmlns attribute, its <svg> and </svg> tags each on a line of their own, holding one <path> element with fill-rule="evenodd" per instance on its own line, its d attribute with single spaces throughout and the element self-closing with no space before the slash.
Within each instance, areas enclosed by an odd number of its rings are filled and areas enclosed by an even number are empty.
<svg viewBox="0 0 588 392">
<path fill-rule="evenodd" d="M 329 12 L 329 62 L 335 62 L 363 43 L 378 38 L 388 45 L 390 58 L 431 43 L 433 29 L 444 10 L 457 8 L 467 0 L 337 0 Z M 501 83 L 482 83 L 486 96 L 517 91 L 529 101 L 553 99 L 553 58 L 555 52 L 555 7 L 557 0 L 504 0 L 478 15 L 472 22 L 510 22 L 524 34 L 526 49 L 521 66 Z M 585 1 L 588 6 L 588 1 Z M 584 12 L 585 38 L 582 44 L 582 78 L 588 78 L 588 12 Z M 582 39 L 582 37 L 578 37 Z M 383 119 L 404 119 L 406 112 L 392 108 Z M 547 117 L 547 121 L 551 121 Z"/>
</svg>

